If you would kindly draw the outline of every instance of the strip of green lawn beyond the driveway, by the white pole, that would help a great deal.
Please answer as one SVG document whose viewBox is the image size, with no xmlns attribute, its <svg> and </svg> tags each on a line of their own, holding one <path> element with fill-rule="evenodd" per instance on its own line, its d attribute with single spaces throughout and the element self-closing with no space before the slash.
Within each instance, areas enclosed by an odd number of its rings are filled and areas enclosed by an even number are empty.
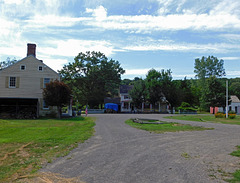
<svg viewBox="0 0 240 183">
<path fill-rule="evenodd" d="M 186 120 L 186 121 L 214 122 L 214 123 L 240 125 L 240 116 L 238 115 L 236 116 L 235 119 L 215 118 L 214 115 L 177 115 L 177 116 L 168 116 L 166 118 Z"/>
</svg>

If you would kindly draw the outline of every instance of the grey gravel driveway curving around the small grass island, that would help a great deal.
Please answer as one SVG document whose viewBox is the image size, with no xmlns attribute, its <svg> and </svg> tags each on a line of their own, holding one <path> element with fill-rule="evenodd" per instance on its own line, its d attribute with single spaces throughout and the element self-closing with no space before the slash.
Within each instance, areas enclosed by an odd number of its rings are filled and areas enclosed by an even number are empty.
<svg viewBox="0 0 240 183">
<path fill-rule="evenodd" d="M 240 145 L 240 125 L 164 119 L 160 114 L 99 114 L 95 136 L 41 171 L 80 177 L 87 183 L 224 182 L 240 169 L 230 156 Z M 214 130 L 154 134 L 124 123 L 129 118 L 161 119 Z"/>
</svg>

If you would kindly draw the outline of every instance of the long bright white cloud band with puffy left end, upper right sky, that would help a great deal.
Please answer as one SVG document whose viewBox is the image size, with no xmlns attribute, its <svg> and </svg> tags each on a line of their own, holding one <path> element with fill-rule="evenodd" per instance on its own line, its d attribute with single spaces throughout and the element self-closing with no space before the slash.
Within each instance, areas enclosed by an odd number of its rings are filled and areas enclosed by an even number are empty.
<svg viewBox="0 0 240 183">
<path fill-rule="evenodd" d="M 103 7 L 101 8 L 103 9 Z M 96 16 L 99 9 L 87 11 Z M 162 30 L 224 30 L 240 29 L 240 19 L 234 14 L 169 14 L 169 15 L 138 15 L 138 16 L 107 16 L 104 9 L 104 18 L 96 21 L 87 21 L 85 24 L 108 30 L 125 30 L 135 32 L 152 32 Z M 100 21 L 99 21 L 100 20 Z"/>
</svg>

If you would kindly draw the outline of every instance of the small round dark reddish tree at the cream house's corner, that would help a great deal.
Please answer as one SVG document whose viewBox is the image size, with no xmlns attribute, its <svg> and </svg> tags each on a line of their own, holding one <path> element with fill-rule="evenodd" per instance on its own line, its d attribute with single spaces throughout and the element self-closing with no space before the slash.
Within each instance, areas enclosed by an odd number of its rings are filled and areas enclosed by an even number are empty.
<svg viewBox="0 0 240 183">
<path fill-rule="evenodd" d="M 58 118 L 61 117 L 61 108 L 69 104 L 71 99 L 70 88 L 58 80 L 46 84 L 43 89 L 43 100 L 49 106 L 57 106 Z"/>
</svg>

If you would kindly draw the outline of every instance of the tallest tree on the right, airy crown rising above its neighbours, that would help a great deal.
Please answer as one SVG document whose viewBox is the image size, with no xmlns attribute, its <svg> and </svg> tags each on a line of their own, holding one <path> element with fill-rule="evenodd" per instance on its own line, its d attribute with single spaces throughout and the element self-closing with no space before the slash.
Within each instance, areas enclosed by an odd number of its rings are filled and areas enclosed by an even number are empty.
<svg viewBox="0 0 240 183">
<path fill-rule="evenodd" d="M 207 85 L 206 78 L 215 76 L 217 78 L 225 76 L 225 69 L 223 68 L 224 61 L 218 60 L 217 57 L 209 56 L 195 59 L 194 72 L 196 78 L 199 79 L 199 87 L 201 88 L 200 108 L 207 110 Z"/>
</svg>

